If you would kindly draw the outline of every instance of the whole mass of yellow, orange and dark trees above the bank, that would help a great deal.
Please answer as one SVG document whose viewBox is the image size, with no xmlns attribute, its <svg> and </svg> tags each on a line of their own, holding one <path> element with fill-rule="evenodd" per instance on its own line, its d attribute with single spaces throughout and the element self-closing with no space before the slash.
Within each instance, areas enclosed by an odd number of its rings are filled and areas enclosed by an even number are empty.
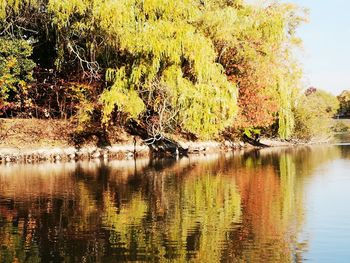
<svg viewBox="0 0 350 263">
<path fill-rule="evenodd" d="M 277 126 L 288 139 L 300 11 L 241 0 L 2 1 L 4 113 L 26 101 L 37 117 L 98 118 L 104 128 L 132 119 L 150 136 Z"/>
</svg>

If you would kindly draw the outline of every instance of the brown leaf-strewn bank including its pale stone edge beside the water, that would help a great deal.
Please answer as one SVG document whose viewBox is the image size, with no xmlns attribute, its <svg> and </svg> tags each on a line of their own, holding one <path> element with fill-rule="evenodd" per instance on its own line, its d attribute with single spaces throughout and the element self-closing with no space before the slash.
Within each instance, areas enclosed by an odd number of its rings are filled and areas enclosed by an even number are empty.
<svg viewBox="0 0 350 263">
<path fill-rule="evenodd" d="M 110 131 L 110 146 L 98 146 L 99 138 L 91 135 L 82 144 L 75 145 L 72 122 L 65 120 L 1 119 L 0 162 L 32 163 L 40 161 L 70 161 L 86 159 L 129 159 L 150 156 L 149 147 L 139 138 L 115 128 Z M 188 149 L 188 154 L 208 154 L 234 149 L 253 148 L 241 141 L 188 141 L 176 138 Z M 297 142 L 262 138 L 268 147 L 286 147 Z"/>
</svg>

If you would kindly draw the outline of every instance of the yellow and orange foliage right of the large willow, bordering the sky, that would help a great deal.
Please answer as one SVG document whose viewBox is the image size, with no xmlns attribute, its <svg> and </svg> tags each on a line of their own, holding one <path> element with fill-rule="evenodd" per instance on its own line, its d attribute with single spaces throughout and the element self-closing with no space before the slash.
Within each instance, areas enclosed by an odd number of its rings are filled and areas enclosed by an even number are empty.
<svg viewBox="0 0 350 263">
<path fill-rule="evenodd" d="M 235 129 L 267 128 L 278 122 L 280 137 L 291 136 L 301 78 L 292 50 L 300 45 L 296 28 L 303 21 L 304 10 L 277 3 L 226 5 L 203 16 L 202 30 L 215 43 L 228 78 L 238 86 Z"/>
</svg>

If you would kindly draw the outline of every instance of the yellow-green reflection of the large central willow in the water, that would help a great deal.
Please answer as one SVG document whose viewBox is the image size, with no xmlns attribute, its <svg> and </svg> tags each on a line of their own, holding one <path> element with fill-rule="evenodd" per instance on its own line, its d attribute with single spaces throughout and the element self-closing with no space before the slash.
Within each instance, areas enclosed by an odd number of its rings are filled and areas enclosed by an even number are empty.
<svg viewBox="0 0 350 263">
<path fill-rule="evenodd" d="M 163 200 L 162 206 L 166 209 L 156 202 L 158 212 L 153 211 L 153 216 L 158 219 L 152 221 L 146 219 L 147 210 L 152 208 L 142 200 L 140 193 L 117 209 L 113 194 L 107 191 L 104 195 L 103 223 L 112 232 L 110 242 L 119 243 L 127 251 L 136 248 L 149 258 L 154 256 L 155 246 L 165 243 L 164 247 L 157 248 L 158 259 L 161 260 L 220 260 L 228 231 L 241 218 L 235 180 L 220 174 L 189 174 L 182 184 L 180 192 L 174 189 L 174 184 L 168 185 L 163 192 L 165 196 L 158 199 Z M 133 243 L 133 239 L 137 240 L 137 244 Z"/>
</svg>

